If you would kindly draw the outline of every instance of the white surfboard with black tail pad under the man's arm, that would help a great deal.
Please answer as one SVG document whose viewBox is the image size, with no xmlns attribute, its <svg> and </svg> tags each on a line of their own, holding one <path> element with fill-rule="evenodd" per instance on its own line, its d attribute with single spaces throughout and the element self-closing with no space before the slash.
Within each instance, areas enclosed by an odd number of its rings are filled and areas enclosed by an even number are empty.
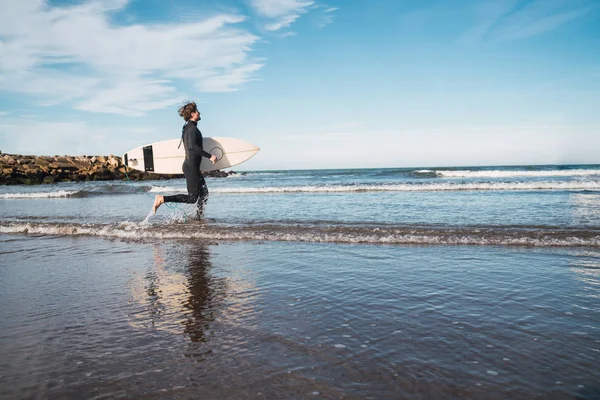
<svg viewBox="0 0 600 400">
<path fill-rule="evenodd" d="M 180 142 L 180 139 L 171 139 L 136 147 L 123 155 L 123 163 L 129 168 L 143 172 L 182 174 L 181 165 L 185 160 L 185 149 L 183 143 L 179 146 Z M 200 171 L 204 172 L 241 164 L 260 150 L 241 139 L 221 137 L 203 138 L 202 147 L 217 156 L 215 164 L 208 158 L 202 157 Z"/>
</svg>

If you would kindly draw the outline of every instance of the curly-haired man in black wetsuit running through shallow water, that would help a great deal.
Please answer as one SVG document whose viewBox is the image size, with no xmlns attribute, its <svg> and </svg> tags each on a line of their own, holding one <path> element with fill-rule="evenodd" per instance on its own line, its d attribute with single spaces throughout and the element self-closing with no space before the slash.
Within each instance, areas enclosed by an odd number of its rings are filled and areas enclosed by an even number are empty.
<svg viewBox="0 0 600 400">
<path fill-rule="evenodd" d="M 217 162 L 217 157 L 204 151 L 202 148 L 202 133 L 198 129 L 200 112 L 196 103 L 190 102 L 179 107 L 179 115 L 185 120 L 185 125 L 181 132 L 181 141 L 185 148 L 185 161 L 182 169 L 185 175 L 188 194 L 176 194 L 174 196 L 158 195 L 154 198 L 152 212 L 156 213 L 158 207 L 163 203 L 188 203 L 198 202 L 197 218 L 202 218 L 204 214 L 204 205 L 208 200 L 208 188 L 200 172 L 200 162 L 202 157 L 210 158 L 212 163 Z M 181 144 L 180 144 L 181 145 Z"/>
</svg>

